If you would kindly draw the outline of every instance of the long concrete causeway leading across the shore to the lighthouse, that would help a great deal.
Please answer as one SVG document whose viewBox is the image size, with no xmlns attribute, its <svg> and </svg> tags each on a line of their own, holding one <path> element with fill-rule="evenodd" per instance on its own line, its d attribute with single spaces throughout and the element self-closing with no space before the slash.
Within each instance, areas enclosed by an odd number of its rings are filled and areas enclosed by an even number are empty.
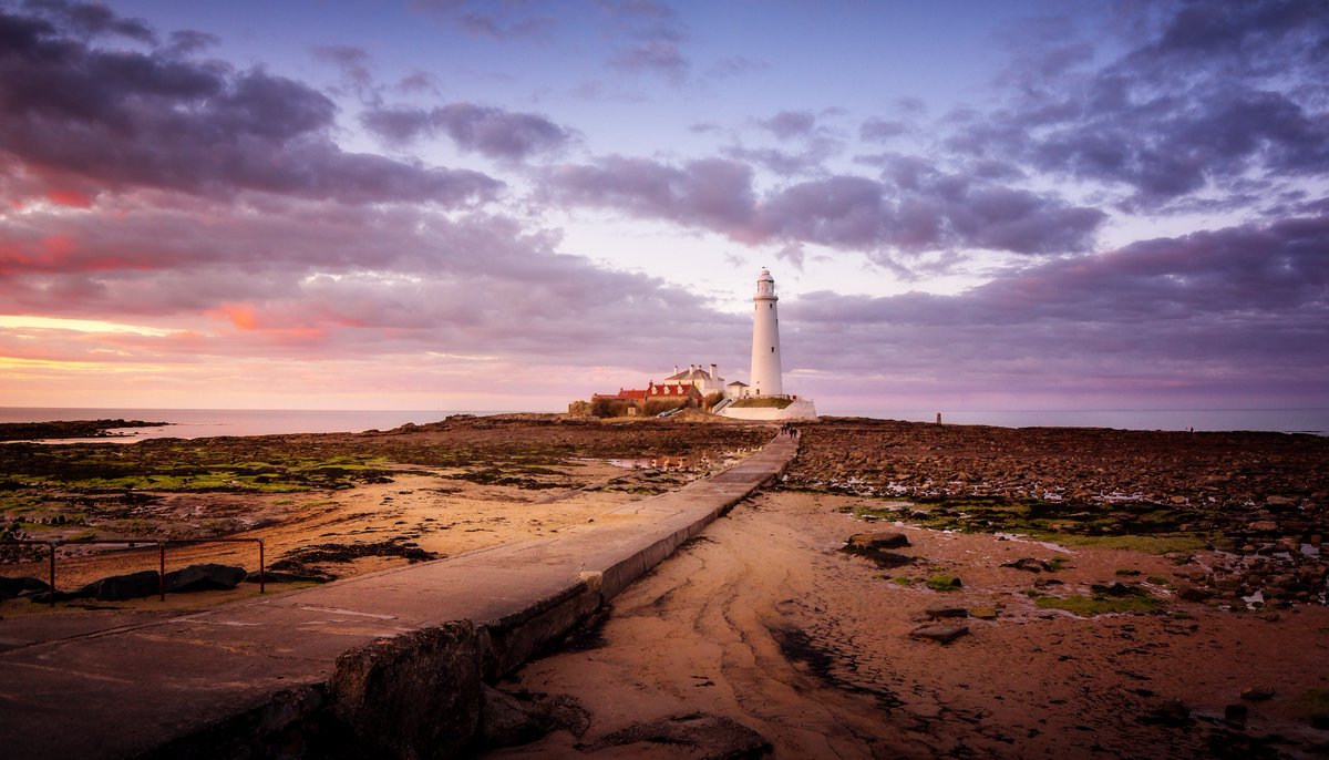
<svg viewBox="0 0 1329 760">
<path fill-rule="evenodd" d="M 441 710 L 473 728 L 468 716 L 478 707 L 462 696 L 480 694 L 478 679 L 510 672 L 563 635 L 776 477 L 796 452 L 796 438 L 779 436 L 714 477 L 558 537 L 203 613 L 98 614 L 45 628 L 40 617 L 0 620 L 0 647 L 8 647 L 0 651 L 0 755 L 299 755 L 290 744 L 302 721 L 335 713 L 355 732 L 358 716 L 360 724 L 384 721 L 384 699 L 403 721 L 413 720 L 405 715 L 412 710 L 435 717 Z M 376 683 L 429 694 L 384 696 Z M 443 753 L 468 739 L 429 725 L 365 728 L 375 729 L 388 736 L 364 745 L 399 756 L 424 749 L 401 744 L 412 731 L 441 743 Z"/>
</svg>

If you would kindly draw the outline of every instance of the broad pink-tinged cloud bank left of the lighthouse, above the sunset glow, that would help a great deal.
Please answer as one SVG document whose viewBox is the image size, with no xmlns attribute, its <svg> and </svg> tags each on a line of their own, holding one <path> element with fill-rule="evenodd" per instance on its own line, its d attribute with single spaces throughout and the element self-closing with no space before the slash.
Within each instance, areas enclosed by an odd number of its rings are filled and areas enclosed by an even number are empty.
<svg viewBox="0 0 1329 760">
<path fill-rule="evenodd" d="M 77 214 L 35 209 L 0 226 L 0 302 L 12 314 L 114 314 L 177 336 L 133 347 L 120 337 L 57 341 L 44 359 L 76 360 L 92 340 L 161 361 L 183 360 L 177 351 L 191 361 L 444 351 L 526 355 L 529 367 L 650 367 L 658 351 L 686 355 L 695 341 L 676 333 L 625 347 L 623 331 L 645 333 L 659 314 L 684 312 L 734 322 L 730 341 L 742 348 L 742 318 L 557 246 L 556 234 L 502 215 L 424 206 L 195 199 L 132 214 L 114 202 Z M 185 333 L 189 345 L 173 345 Z M 9 348 L 37 357 L 21 341 Z"/>
</svg>

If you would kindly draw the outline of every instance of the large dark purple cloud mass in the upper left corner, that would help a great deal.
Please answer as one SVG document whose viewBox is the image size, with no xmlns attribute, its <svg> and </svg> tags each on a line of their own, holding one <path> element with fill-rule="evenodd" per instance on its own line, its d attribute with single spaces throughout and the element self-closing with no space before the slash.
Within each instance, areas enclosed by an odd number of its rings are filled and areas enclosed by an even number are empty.
<svg viewBox="0 0 1329 760">
<path fill-rule="evenodd" d="M 352 203 L 455 205 L 501 186 L 474 171 L 346 153 L 330 137 L 335 112 L 322 93 L 262 69 L 191 61 L 170 47 L 100 49 L 52 20 L 0 11 L 0 151 L 28 174 L 96 189 Z"/>
</svg>

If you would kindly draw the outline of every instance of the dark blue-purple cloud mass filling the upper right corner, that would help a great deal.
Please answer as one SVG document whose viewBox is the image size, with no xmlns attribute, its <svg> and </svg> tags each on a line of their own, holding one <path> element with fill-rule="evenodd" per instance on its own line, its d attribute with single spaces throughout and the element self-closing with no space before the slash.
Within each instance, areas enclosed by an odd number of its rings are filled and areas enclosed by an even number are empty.
<svg viewBox="0 0 1329 760">
<path fill-rule="evenodd" d="M 1061 39 L 1025 52 L 1007 110 L 969 114 L 949 141 L 1079 181 L 1119 185 L 1136 210 L 1251 177 L 1329 170 L 1329 5 L 1318 0 L 1144 7 L 1147 41 L 1092 69 Z M 1053 29 L 1062 35 L 1063 31 Z"/>
</svg>

